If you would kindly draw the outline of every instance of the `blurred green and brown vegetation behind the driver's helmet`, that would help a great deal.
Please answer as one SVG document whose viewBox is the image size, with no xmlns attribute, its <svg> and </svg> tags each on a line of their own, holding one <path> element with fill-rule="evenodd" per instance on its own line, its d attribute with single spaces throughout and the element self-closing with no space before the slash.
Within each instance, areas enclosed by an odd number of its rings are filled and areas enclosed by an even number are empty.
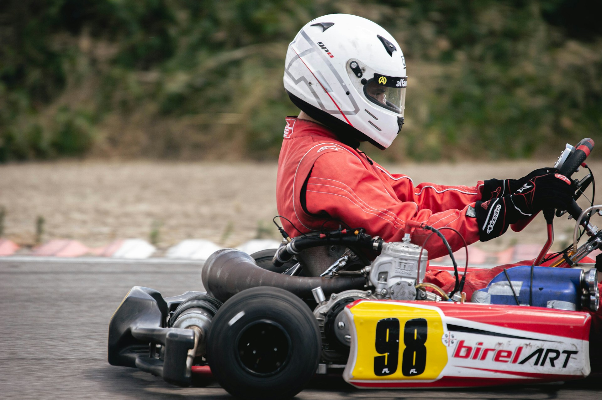
<svg viewBox="0 0 602 400">
<path fill-rule="evenodd" d="M 600 136 L 600 1 L 7 0 L 0 161 L 276 159 L 297 113 L 287 44 L 328 13 L 374 20 L 406 55 L 406 125 L 380 160 L 545 156 Z"/>
</svg>

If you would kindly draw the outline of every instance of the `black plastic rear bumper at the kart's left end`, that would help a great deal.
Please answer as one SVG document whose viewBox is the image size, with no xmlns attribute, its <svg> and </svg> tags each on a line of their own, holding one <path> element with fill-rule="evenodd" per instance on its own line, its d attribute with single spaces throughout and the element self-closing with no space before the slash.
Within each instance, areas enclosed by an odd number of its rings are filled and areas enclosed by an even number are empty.
<svg viewBox="0 0 602 400">
<path fill-rule="evenodd" d="M 163 327 L 168 311 L 160 292 L 134 286 L 111 317 L 108 362 L 190 386 L 188 351 L 196 347 L 197 338 L 190 329 Z M 157 353 L 158 344 L 163 346 L 161 354 Z"/>
</svg>

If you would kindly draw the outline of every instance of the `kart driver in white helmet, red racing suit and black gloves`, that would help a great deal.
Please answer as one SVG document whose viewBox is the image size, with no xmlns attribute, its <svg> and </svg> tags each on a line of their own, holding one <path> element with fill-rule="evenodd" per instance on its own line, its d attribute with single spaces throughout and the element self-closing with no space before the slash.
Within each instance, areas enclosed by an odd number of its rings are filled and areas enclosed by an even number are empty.
<svg viewBox="0 0 602 400">
<path fill-rule="evenodd" d="M 288 219 L 282 220 L 285 231 L 296 236 L 336 229 L 341 221 L 385 241 L 401 241 L 406 221 L 414 220 L 452 227 L 470 244 L 498 237 L 544 207 L 564 209 L 572 200 L 571 181 L 553 168 L 517 180 L 444 186 L 415 184 L 369 159 L 358 150 L 360 142 L 384 150 L 402 129 L 407 83 L 399 44 L 376 23 L 331 14 L 303 26 L 288 46 L 284 70 L 284 88 L 301 110 L 286 118 L 278 162 L 276 193 L 279 214 Z M 452 250 L 463 246 L 455 232 L 441 232 Z M 429 234 L 415 229 L 412 242 L 422 244 Z M 434 235 L 426 248 L 429 258 L 447 254 Z M 467 300 L 503 267 L 468 273 Z M 455 283 L 436 270 L 425 280 L 446 292 Z"/>
</svg>

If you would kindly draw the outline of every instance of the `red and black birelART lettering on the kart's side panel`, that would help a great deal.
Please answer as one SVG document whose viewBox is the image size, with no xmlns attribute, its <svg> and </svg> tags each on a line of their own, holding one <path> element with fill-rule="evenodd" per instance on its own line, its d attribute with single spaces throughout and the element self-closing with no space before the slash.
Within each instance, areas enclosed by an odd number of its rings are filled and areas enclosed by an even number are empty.
<svg viewBox="0 0 602 400">
<path fill-rule="evenodd" d="M 453 357 L 456 359 L 470 359 L 479 361 L 493 361 L 496 363 L 510 363 L 510 364 L 525 364 L 530 360 L 533 360 L 533 365 L 544 366 L 548 363 L 551 367 L 556 368 L 562 363 L 562 368 L 566 368 L 571 355 L 579 353 L 574 350 L 556 350 L 554 348 L 538 348 L 530 354 L 522 354 L 523 346 L 519 346 L 514 351 L 500 350 L 495 348 L 483 348 L 483 342 L 477 343 L 476 346 L 467 346 L 464 344 L 465 341 L 460 341 L 456 350 L 454 351 Z M 521 356 L 523 358 L 521 359 Z M 565 356 L 564 359 L 560 359 L 561 356 Z M 557 363 L 556 363 L 557 362 Z"/>
</svg>

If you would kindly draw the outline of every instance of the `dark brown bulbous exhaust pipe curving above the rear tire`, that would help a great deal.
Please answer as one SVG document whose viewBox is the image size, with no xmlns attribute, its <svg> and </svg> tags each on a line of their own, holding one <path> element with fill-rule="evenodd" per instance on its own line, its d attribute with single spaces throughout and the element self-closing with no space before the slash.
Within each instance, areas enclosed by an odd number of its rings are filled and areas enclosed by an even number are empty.
<svg viewBox="0 0 602 400">
<path fill-rule="evenodd" d="M 301 298 L 312 298 L 311 289 L 321 286 L 324 294 L 349 289 L 363 289 L 364 277 L 334 278 L 290 276 L 264 270 L 247 253 L 222 249 L 213 253 L 203 266 L 201 279 L 209 295 L 225 302 L 244 289 L 272 286 L 285 289 Z"/>
</svg>

